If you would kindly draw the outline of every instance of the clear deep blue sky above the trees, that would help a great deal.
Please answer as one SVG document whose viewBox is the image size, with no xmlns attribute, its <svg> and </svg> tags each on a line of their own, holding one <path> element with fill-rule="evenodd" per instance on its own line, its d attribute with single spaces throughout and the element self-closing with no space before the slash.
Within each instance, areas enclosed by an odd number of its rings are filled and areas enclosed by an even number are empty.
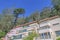
<svg viewBox="0 0 60 40">
<path fill-rule="evenodd" d="M 0 0 L 0 13 L 5 8 L 24 8 L 25 15 L 28 16 L 35 10 L 42 10 L 44 7 L 50 7 L 50 0 Z"/>
</svg>

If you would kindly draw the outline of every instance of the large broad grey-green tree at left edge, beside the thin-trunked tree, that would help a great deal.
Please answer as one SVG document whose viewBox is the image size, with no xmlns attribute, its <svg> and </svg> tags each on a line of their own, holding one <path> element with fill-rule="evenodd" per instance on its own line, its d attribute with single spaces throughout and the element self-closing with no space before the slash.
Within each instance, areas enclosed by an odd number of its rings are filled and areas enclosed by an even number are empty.
<svg viewBox="0 0 60 40">
<path fill-rule="evenodd" d="M 5 12 L 6 11 L 6 12 Z M 0 14 L 0 30 L 5 31 L 6 33 L 11 29 L 12 20 L 14 16 L 10 11 L 5 10 Z M 9 29 L 9 30 L 8 30 Z"/>
</svg>

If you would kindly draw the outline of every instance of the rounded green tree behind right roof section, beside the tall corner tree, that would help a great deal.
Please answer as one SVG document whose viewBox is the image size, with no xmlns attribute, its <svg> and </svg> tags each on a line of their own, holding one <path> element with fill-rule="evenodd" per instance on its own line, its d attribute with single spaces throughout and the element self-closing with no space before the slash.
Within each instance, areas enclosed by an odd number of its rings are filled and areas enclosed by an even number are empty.
<svg viewBox="0 0 60 40">
<path fill-rule="evenodd" d="M 41 17 L 41 19 L 48 18 L 48 17 L 50 17 L 50 14 L 51 14 L 51 8 L 45 7 L 40 12 L 40 17 Z"/>
</svg>

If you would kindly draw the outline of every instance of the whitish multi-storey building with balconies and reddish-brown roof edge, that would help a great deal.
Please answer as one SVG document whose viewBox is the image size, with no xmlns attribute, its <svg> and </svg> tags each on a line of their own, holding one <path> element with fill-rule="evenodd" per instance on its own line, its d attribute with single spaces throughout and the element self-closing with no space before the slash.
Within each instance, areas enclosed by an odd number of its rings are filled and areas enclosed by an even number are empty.
<svg viewBox="0 0 60 40">
<path fill-rule="evenodd" d="M 56 40 L 56 37 L 60 36 L 60 17 L 46 18 L 40 20 L 39 24 L 34 21 L 17 26 L 7 33 L 5 40 L 22 40 L 32 30 L 39 34 L 39 37 L 35 38 L 35 40 Z"/>
</svg>

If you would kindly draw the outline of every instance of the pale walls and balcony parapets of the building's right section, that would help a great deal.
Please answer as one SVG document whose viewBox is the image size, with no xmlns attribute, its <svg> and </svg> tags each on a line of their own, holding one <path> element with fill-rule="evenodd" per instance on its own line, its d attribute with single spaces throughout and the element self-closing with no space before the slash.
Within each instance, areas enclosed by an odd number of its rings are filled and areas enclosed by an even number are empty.
<svg viewBox="0 0 60 40">
<path fill-rule="evenodd" d="M 56 23 L 59 23 L 57 25 L 55 25 Z M 54 25 L 53 25 L 54 24 Z M 47 21 L 44 21 L 42 23 L 39 24 L 40 27 L 44 27 L 46 25 L 50 26 L 49 29 L 43 29 L 43 30 L 39 30 L 39 33 L 45 33 L 45 32 L 50 32 L 51 34 L 51 38 L 53 40 L 56 40 L 56 33 L 55 31 L 58 31 L 60 30 L 60 18 L 56 18 L 56 19 L 53 19 L 53 20 L 47 20 Z M 43 39 L 44 40 L 44 39 Z M 50 39 L 49 39 L 50 40 Z"/>
</svg>

